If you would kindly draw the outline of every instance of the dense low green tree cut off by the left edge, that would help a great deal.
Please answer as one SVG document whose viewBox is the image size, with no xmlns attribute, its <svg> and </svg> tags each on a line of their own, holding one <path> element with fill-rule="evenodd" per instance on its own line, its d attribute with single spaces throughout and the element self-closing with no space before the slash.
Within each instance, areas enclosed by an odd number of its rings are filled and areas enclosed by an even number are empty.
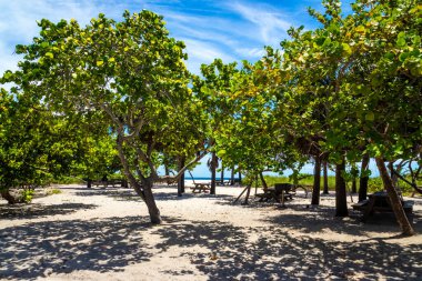
<svg viewBox="0 0 422 281">
<path fill-rule="evenodd" d="M 80 143 L 69 134 L 76 128 L 46 104 L 1 90 L 0 191 L 9 203 L 20 201 L 9 190 L 42 187 L 71 171 L 82 155 Z"/>
</svg>

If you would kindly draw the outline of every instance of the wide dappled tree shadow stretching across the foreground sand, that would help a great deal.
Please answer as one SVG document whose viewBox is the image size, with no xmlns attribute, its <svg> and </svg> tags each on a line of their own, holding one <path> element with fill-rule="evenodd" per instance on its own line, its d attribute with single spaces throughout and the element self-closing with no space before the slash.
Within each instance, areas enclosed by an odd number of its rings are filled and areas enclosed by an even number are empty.
<svg viewBox="0 0 422 281">
<path fill-rule="evenodd" d="M 302 218 L 307 219 L 307 218 Z M 122 271 L 148 261 L 153 252 L 183 247 L 181 255 L 210 280 L 314 280 L 338 277 L 374 280 L 421 280 L 422 245 L 400 245 L 383 239 L 333 242 L 293 237 L 278 225 L 239 228 L 220 221 L 164 218 L 153 227 L 143 217 L 91 221 L 48 221 L 3 229 L 0 278 L 29 280 L 89 269 Z M 148 232 L 148 233 L 147 233 Z M 145 245 L 143 235 L 160 241 Z M 153 249 L 152 249 L 153 248 Z M 201 252 L 191 249 L 201 249 Z M 174 258 L 177 262 L 177 257 Z M 171 274 L 184 274 L 171 268 Z"/>
</svg>

